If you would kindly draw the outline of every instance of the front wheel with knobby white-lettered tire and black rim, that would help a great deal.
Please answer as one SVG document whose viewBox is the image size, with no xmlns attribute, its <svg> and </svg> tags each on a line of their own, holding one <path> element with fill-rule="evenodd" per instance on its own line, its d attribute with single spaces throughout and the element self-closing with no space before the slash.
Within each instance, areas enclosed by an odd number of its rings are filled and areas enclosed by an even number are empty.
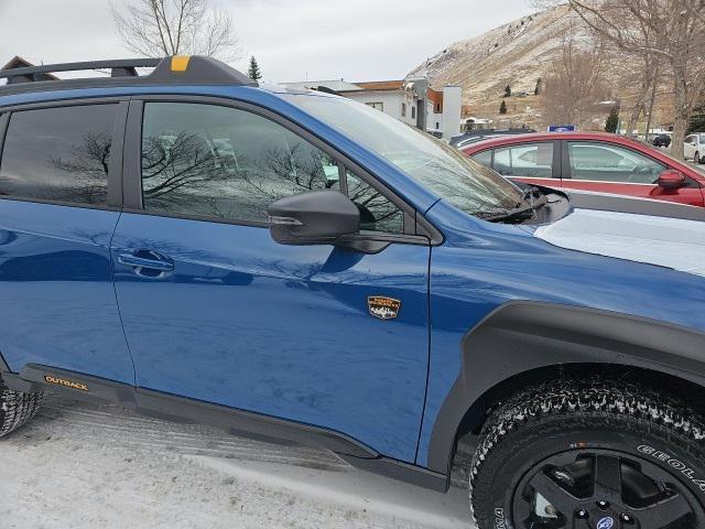
<svg viewBox="0 0 705 529">
<path fill-rule="evenodd" d="M 606 381 L 522 391 L 489 418 L 470 468 L 479 529 L 705 527 L 703 419 Z"/>
</svg>

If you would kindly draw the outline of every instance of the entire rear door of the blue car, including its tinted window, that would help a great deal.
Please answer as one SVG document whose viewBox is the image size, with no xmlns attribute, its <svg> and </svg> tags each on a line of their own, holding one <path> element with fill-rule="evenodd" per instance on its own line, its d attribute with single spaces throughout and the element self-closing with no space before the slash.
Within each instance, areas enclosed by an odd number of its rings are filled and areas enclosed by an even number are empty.
<svg viewBox="0 0 705 529">
<path fill-rule="evenodd" d="M 64 101 L 9 116 L 0 161 L 0 350 L 134 384 L 112 285 L 126 104 Z M 7 119 L 7 118 L 3 118 Z M 2 128 L 2 127 L 0 127 Z"/>
</svg>

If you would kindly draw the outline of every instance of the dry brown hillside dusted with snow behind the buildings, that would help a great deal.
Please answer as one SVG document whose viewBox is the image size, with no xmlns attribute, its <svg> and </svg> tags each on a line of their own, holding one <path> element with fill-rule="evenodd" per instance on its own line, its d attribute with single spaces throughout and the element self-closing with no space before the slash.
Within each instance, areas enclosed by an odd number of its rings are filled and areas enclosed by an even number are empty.
<svg viewBox="0 0 705 529">
<path fill-rule="evenodd" d="M 560 6 L 451 44 L 410 75 L 427 75 L 434 88 L 460 86 L 464 104 L 469 106 L 467 114 L 492 119 L 497 127 L 525 123 L 542 128 L 546 123 L 540 116 L 539 97 L 533 95 L 536 80 L 545 79 L 551 63 L 561 56 L 563 41 L 571 28 L 582 25 L 570 8 Z M 589 39 L 583 34 L 583 39 Z M 633 105 L 638 79 L 626 73 L 629 65 L 623 60 L 616 57 L 614 63 L 607 82 L 614 87 L 615 96 L 621 99 L 626 118 Z M 527 91 L 530 96 L 506 99 L 509 111 L 501 116 L 499 106 L 507 85 L 511 86 L 513 94 Z M 663 105 L 658 107 L 657 122 L 668 121 L 668 108 Z"/>
</svg>

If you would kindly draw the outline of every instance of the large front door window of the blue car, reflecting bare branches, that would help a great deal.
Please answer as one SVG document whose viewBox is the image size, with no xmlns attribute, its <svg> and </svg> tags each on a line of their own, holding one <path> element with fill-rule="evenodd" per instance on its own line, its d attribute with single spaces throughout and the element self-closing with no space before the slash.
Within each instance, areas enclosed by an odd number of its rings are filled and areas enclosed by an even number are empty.
<svg viewBox="0 0 705 529">
<path fill-rule="evenodd" d="M 214 105 L 144 107 L 148 210 L 265 222 L 279 198 L 326 188 L 339 188 L 335 161 L 269 119 Z"/>
</svg>

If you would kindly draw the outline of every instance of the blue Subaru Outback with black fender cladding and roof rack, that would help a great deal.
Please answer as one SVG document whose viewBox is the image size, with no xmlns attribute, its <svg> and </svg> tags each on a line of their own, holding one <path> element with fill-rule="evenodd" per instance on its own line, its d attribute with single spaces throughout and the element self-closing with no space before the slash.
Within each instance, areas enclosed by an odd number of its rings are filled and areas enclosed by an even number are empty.
<svg viewBox="0 0 705 529">
<path fill-rule="evenodd" d="M 437 490 L 463 439 L 480 529 L 705 527 L 703 210 L 205 57 L 0 76 L 0 434 L 54 391 Z"/>
</svg>

